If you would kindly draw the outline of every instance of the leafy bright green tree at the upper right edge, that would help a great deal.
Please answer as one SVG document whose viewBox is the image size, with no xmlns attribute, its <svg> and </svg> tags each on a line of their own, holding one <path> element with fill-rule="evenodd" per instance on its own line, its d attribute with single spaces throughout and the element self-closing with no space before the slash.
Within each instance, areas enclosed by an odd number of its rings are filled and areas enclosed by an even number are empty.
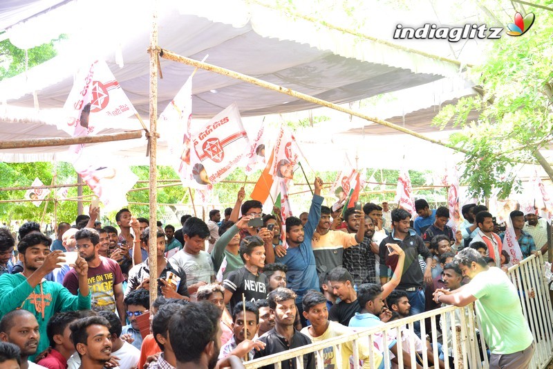
<svg viewBox="0 0 553 369">
<path fill-rule="evenodd" d="M 500 198 L 519 190 L 519 163 L 539 163 L 553 179 L 553 170 L 539 152 L 552 138 L 553 12 L 532 12 L 536 21 L 527 33 L 503 33 L 491 46 L 487 62 L 471 69 L 482 93 L 444 107 L 434 120 L 439 127 L 453 122 L 462 128 L 450 142 L 465 150 L 462 178 L 471 195 L 480 199 L 490 197 L 494 189 L 500 190 Z M 478 120 L 467 123 L 473 109 L 480 111 Z"/>
</svg>

